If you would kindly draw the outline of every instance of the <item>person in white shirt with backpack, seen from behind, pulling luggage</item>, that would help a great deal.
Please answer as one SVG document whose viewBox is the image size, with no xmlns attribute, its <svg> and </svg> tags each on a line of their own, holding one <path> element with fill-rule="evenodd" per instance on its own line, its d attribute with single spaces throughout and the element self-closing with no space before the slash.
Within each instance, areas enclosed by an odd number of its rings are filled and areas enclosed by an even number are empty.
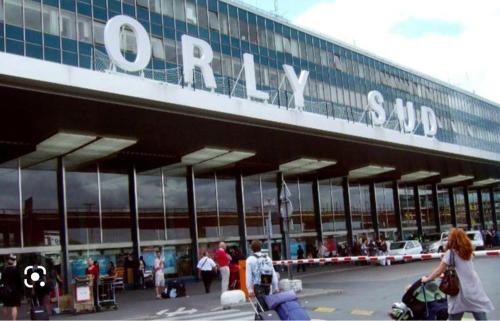
<svg viewBox="0 0 500 321">
<path fill-rule="evenodd" d="M 279 292 L 278 275 L 273 268 L 273 261 L 266 254 L 262 253 L 262 243 L 258 240 L 252 241 L 250 245 L 253 254 L 247 258 L 246 262 L 246 286 L 248 296 L 257 298 L 260 304 L 265 307 L 264 296 L 273 292 Z"/>
</svg>

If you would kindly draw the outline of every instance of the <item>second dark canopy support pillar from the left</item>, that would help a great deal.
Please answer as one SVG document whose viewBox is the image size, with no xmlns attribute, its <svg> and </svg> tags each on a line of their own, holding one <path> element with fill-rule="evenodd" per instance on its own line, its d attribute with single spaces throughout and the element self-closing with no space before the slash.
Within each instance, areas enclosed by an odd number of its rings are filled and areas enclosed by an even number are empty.
<svg viewBox="0 0 500 321">
<path fill-rule="evenodd" d="M 128 194 L 130 204 L 130 236 L 132 239 L 132 257 L 134 262 L 139 262 L 141 253 L 141 241 L 139 235 L 139 204 L 137 203 L 137 173 L 135 166 L 131 166 L 128 172 Z M 134 288 L 138 285 L 138 279 L 134 273 Z"/>
</svg>

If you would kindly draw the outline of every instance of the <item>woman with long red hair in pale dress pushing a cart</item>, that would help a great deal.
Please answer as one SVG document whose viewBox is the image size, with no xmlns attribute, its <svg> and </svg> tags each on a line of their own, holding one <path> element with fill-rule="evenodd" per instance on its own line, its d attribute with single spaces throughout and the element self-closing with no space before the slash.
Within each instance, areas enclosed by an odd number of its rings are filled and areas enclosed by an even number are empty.
<svg viewBox="0 0 500 321">
<path fill-rule="evenodd" d="M 475 320 L 487 320 L 486 313 L 495 308 L 484 292 L 483 284 L 476 273 L 473 263 L 472 243 L 462 229 L 452 228 L 448 235 L 447 251 L 439 266 L 429 276 L 424 276 L 426 283 L 439 277 L 446 267 L 455 263 L 460 283 L 456 296 L 448 296 L 449 320 L 461 320 L 465 312 L 473 314 Z"/>
</svg>

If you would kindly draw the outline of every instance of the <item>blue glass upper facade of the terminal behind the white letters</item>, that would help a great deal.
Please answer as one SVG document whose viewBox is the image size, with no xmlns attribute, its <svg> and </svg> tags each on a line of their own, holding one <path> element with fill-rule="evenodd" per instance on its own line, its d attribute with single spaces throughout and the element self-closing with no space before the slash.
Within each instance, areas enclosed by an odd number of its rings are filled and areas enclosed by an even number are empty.
<svg viewBox="0 0 500 321">
<path fill-rule="evenodd" d="M 498 106 L 440 82 L 317 37 L 278 18 L 270 19 L 222 0 L 1 0 L 0 50 L 62 64 L 102 70 L 109 60 L 104 49 L 108 19 L 124 14 L 137 19 L 150 34 L 153 57 L 145 77 L 179 83 L 183 34 L 210 43 L 218 91 L 229 94 L 245 52 L 254 55 L 257 87 L 271 102 L 293 105 L 290 86 L 283 82 L 283 64 L 310 71 L 306 108 L 313 113 L 358 121 L 366 95 L 378 90 L 391 114 L 396 98 L 432 107 L 437 139 L 500 152 Z M 136 54 L 133 34 L 124 31 L 122 48 L 128 59 Z M 201 77 L 197 86 L 203 88 Z M 199 79 L 198 79 L 199 78 Z M 280 84 L 282 86 L 280 87 Z M 239 85 L 244 86 L 242 80 Z M 234 95 L 244 96 L 237 86 Z M 398 122 L 389 127 L 398 126 Z M 416 130 L 422 135 L 422 128 Z"/>
</svg>

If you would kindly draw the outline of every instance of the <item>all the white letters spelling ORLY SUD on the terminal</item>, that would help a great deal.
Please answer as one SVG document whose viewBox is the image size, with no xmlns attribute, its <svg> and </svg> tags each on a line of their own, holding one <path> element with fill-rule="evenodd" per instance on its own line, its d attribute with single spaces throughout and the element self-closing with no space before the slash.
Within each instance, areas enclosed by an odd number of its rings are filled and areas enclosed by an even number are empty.
<svg viewBox="0 0 500 321">
<path fill-rule="evenodd" d="M 134 61 L 127 60 L 120 47 L 121 30 L 127 27 L 135 35 L 137 44 L 137 56 Z M 112 63 L 130 72 L 141 71 L 146 68 L 151 60 L 151 41 L 144 27 L 135 19 L 120 15 L 111 18 L 104 29 L 104 43 L 106 51 Z M 207 88 L 215 90 L 217 83 L 215 81 L 214 72 L 211 67 L 213 59 L 213 51 L 210 44 L 202 39 L 183 35 L 181 38 L 182 46 L 182 61 L 183 61 L 183 77 L 186 85 L 192 86 L 193 71 L 199 68 L 202 73 L 203 81 Z M 195 55 L 195 52 L 197 54 Z M 283 70 L 285 77 L 293 91 L 293 99 L 297 110 L 304 108 L 304 89 L 307 85 L 309 71 L 302 70 L 299 75 L 295 73 L 292 66 L 284 64 Z M 243 70 L 245 77 L 246 94 L 248 98 L 258 99 L 267 103 L 269 94 L 257 89 L 255 80 L 255 65 L 253 55 L 249 53 L 243 54 Z M 376 126 L 384 126 L 387 122 L 386 112 L 383 108 L 384 97 L 376 90 L 368 93 L 368 112 L 372 116 L 373 124 Z M 413 103 L 408 101 L 403 104 L 402 99 L 396 99 L 395 113 L 398 117 L 401 131 L 403 133 L 414 133 L 417 125 L 417 113 Z M 426 106 L 420 107 L 420 122 L 427 137 L 434 137 L 437 133 L 437 120 L 434 111 Z"/>
</svg>

